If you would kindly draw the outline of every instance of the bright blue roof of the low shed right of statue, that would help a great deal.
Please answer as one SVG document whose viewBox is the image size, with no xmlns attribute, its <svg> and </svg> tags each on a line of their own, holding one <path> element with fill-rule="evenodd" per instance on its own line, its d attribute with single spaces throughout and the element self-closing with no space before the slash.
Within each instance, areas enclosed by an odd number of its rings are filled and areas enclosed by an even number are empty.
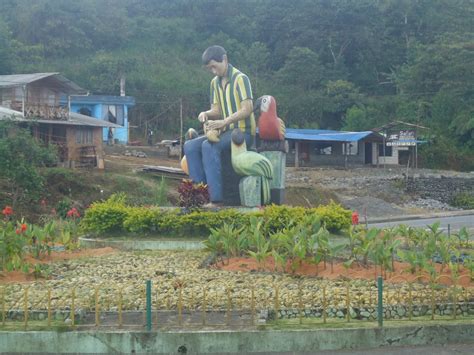
<svg viewBox="0 0 474 355">
<path fill-rule="evenodd" d="M 357 142 L 369 136 L 371 136 L 371 138 L 376 138 L 377 140 L 382 140 L 381 135 L 372 131 L 341 132 L 324 129 L 287 128 L 285 132 L 286 139 L 323 142 Z"/>
</svg>

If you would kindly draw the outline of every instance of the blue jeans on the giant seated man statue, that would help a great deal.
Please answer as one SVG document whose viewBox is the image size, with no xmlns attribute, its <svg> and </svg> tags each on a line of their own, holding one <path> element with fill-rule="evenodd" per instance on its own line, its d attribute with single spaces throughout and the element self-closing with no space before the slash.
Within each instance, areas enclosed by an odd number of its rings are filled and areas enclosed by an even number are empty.
<svg viewBox="0 0 474 355">
<path fill-rule="evenodd" d="M 221 153 L 230 151 L 232 131 L 222 133 L 219 142 L 211 143 L 201 136 L 184 143 L 189 177 L 194 183 L 205 183 L 211 202 L 221 202 L 223 197 Z M 252 146 L 252 135 L 245 133 L 247 147 Z"/>
</svg>

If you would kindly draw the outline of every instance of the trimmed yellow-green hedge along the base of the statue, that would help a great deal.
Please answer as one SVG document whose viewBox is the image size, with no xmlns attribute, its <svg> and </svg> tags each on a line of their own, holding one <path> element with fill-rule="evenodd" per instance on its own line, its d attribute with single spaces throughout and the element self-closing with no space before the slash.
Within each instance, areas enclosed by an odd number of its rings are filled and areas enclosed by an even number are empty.
<svg viewBox="0 0 474 355">
<path fill-rule="evenodd" d="M 341 230 L 351 223 L 351 212 L 335 203 L 316 209 L 272 205 L 253 212 L 222 209 L 184 213 L 178 208 L 131 207 L 126 205 L 124 195 L 112 195 L 109 200 L 94 203 L 86 210 L 82 226 L 85 231 L 96 234 L 132 232 L 207 237 L 211 229 L 224 224 L 233 224 L 236 228 L 248 226 L 252 216 L 262 217 L 265 235 L 297 226 L 308 216 L 319 216 L 331 231 Z"/>
</svg>

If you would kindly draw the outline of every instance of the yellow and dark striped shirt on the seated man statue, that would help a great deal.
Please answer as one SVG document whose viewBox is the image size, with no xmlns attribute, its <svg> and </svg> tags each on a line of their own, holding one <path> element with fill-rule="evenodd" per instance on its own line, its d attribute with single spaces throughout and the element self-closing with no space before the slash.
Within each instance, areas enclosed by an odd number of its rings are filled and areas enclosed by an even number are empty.
<svg viewBox="0 0 474 355">
<path fill-rule="evenodd" d="M 253 100 L 252 87 L 247 75 L 229 64 L 227 78 L 228 81 L 225 87 L 222 87 L 222 79 L 218 76 L 211 81 L 211 104 L 219 106 L 223 118 L 227 118 L 238 111 L 242 101 Z M 237 125 L 243 132 L 255 135 L 255 116 L 253 113 L 245 120 L 240 120 Z M 227 127 L 227 129 L 233 128 L 234 124 Z"/>
</svg>

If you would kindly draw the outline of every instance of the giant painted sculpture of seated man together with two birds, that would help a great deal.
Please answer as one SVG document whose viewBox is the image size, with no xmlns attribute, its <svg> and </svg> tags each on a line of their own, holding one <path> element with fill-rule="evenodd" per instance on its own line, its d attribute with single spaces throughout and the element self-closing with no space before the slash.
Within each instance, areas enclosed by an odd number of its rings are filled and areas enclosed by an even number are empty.
<svg viewBox="0 0 474 355">
<path fill-rule="evenodd" d="M 256 104 L 263 143 L 259 154 L 254 151 L 256 122 L 248 77 L 228 63 L 220 46 L 206 49 L 202 60 L 215 77 L 210 85 L 211 108 L 198 116 L 205 135 L 186 134 L 191 138 L 184 144 L 190 178 L 208 185 L 214 205 L 282 203 L 284 124 L 276 116 L 275 100 L 263 96 Z"/>
</svg>

